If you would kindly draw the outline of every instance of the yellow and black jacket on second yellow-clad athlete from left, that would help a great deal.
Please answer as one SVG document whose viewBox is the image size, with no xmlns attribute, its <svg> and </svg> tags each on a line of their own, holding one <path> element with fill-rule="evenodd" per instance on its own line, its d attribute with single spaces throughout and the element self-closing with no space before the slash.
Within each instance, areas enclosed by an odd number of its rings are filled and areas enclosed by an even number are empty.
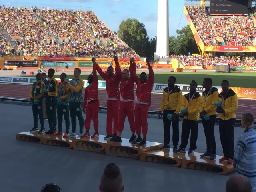
<svg viewBox="0 0 256 192">
<path fill-rule="evenodd" d="M 193 94 L 190 94 L 192 96 Z M 189 102 L 189 93 L 185 94 L 182 99 L 182 109 L 188 110 L 188 116 L 184 116 L 184 119 L 193 120 L 193 121 L 199 121 L 199 113 L 201 109 L 201 100 L 202 97 L 198 92 L 194 95 L 194 97 L 191 100 L 191 103 Z"/>
</svg>

